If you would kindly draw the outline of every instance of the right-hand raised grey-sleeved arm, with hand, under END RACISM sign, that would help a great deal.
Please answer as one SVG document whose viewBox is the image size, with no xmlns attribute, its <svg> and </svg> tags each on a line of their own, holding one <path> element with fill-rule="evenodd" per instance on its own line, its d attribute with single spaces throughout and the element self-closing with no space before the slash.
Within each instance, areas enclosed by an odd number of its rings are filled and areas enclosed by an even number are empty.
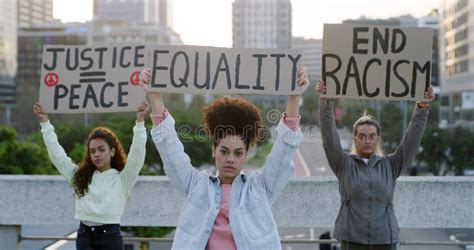
<svg viewBox="0 0 474 250">
<path fill-rule="evenodd" d="M 434 100 L 433 89 L 431 87 L 426 91 L 425 98 L 425 101 L 416 104 L 410 124 L 400 145 L 398 145 L 395 152 L 387 156 L 392 163 L 393 176 L 395 177 L 400 176 L 400 173 L 408 167 L 408 164 L 410 164 L 420 147 L 421 138 L 423 137 L 426 122 L 428 121 L 429 103 Z"/>
</svg>

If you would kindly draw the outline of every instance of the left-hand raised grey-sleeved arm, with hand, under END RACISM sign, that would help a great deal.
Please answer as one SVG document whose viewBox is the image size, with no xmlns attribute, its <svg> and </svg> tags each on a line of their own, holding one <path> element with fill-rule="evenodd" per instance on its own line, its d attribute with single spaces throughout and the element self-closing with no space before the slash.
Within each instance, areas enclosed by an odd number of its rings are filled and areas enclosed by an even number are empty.
<svg viewBox="0 0 474 250">
<path fill-rule="evenodd" d="M 326 83 L 319 81 L 316 84 L 316 92 L 323 94 L 326 92 Z M 323 148 L 328 159 L 329 167 L 336 176 L 342 171 L 344 161 L 347 155 L 342 150 L 341 140 L 336 129 L 336 121 L 334 120 L 334 101 L 327 98 L 320 98 L 319 101 L 319 125 L 321 137 L 323 140 Z"/>
</svg>

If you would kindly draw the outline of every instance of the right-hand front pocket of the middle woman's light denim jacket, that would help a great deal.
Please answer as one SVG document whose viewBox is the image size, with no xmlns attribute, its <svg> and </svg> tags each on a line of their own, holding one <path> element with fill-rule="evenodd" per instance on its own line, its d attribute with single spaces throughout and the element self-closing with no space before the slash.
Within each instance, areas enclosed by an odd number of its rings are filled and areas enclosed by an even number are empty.
<svg viewBox="0 0 474 250">
<path fill-rule="evenodd" d="M 260 239 L 274 230 L 272 211 L 260 198 L 252 197 L 242 211 L 242 220 L 251 239 Z"/>
</svg>

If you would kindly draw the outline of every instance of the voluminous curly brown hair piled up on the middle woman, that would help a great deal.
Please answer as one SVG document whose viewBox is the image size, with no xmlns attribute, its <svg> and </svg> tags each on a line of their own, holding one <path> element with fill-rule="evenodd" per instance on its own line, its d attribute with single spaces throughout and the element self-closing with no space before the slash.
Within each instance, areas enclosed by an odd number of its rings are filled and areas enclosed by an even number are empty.
<svg viewBox="0 0 474 250">
<path fill-rule="evenodd" d="M 238 135 L 246 150 L 254 145 L 262 125 L 260 111 L 251 102 L 241 98 L 224 96 L 203 109 L 203 123 L 213 140 L 214 147 L 228 135 Z"/>
</svg>

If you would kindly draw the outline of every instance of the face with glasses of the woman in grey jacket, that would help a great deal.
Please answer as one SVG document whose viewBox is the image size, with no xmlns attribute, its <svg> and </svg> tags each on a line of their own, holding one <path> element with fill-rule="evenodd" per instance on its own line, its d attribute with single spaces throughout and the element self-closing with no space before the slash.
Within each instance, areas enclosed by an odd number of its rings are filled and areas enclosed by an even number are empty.
<svg viewBox="0 0 474 250">
<path fill-rule="evenodd" d="M 377 128 L 375 126 L 363 124 L 357 127 L 354 144 L 359 156 L 369 158 L 375 153 L 378 142 L 379 136 L 377 135 Z"/>
</svg>

